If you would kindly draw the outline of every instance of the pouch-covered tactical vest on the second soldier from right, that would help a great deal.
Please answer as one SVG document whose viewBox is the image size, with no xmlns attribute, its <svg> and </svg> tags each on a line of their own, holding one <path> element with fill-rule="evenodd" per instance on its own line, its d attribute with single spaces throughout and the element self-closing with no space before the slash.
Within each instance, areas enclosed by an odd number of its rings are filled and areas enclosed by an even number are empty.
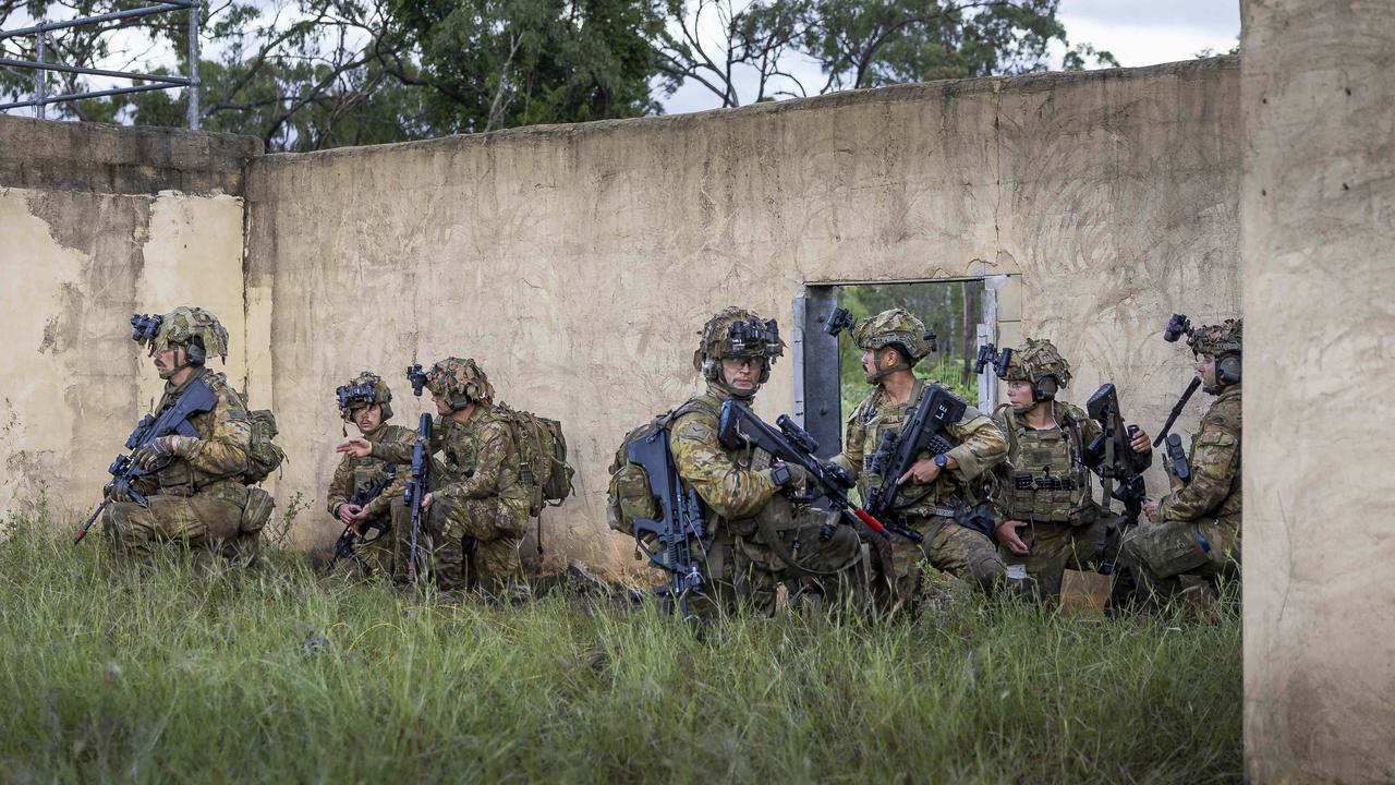
<svg viewBox="0 0 1395 785">
<path fill-rule="evenodd" d="M 1078 425 L 1066 416 L 1060 418 L 1066 422 L 1050 430 L 1036 430 L 1021 425 L 1010 406 L 1004 413 L 1007 515 L 1018 521 L 1073 522 L 1089 503 Z"/>
</svg>

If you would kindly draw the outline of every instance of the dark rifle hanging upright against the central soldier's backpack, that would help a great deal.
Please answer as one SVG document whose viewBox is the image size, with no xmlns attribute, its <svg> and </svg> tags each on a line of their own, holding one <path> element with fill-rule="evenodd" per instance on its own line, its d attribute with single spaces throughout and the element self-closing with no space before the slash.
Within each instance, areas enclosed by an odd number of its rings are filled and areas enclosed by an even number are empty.
<svg viewBox="0 0 1395 785">
<path fill-rule="evenodd" d="M 644 469 L 649 487 L 658 499 L 658 518 L 635 518 L 635 546 L 668 573 L 668 585 L 661 589 L 665 595 L 664 610 L 677 605 L 686 616 L 688 598 L 702 594 L 704 584 L 693 553 L 706 552 L 709 538 L 698 492 L 685 489 L 678 478 L 667 427 L 656 427 L 631 441 L 625 460 Z M 646 545 L 646 539 L 656 546 Z"/>
</svg>

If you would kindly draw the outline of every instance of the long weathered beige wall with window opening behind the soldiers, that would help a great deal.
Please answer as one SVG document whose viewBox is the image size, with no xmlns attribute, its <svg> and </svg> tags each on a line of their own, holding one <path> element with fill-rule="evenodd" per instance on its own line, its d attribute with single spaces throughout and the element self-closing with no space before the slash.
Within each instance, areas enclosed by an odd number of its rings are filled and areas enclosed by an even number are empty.
<svg viewBox="0 0 1395 785">
<path fill-rule="evenodd" d="M 554 555 L 612 562 L 618 439 L 699 388 L 716 309 L 788 327 L 806 282 L 1023 272 L 1023 325 L 1067 352 L 1071 397 L 1115 380 L 1156 429 L 1190 376 L 1168 314 L 1239 310 L 1237 106 L 1221 59 L 259 158 L 247 286 L 293 458 L 280 496 L 312 496 L 303 541 L 332 536 L 333 388 L 385 373 L 410 425 L 428 401 L 402 367 L 474 356 L 502 399 L 566 425 L 578 499 L 547 514 Z M 766 413 L 790 409 L 791 367 Z"/>
</svg>

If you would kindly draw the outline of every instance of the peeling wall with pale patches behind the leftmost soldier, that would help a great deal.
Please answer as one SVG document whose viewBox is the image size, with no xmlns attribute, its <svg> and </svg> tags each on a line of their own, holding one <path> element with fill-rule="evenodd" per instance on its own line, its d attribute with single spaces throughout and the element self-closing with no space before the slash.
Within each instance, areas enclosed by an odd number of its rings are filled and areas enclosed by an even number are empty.
<svg viewBox="0 0 1395 785">
<path fill-rule="evenodd" d="M 246 376 L 236 194 L 259 152 L 226 134 L 0 116 L 0 514 L 100 499 L 160 387 L 130 341 L 133 313 L 204 305 L 233 335 L 230 374 Z"/>
</svg>

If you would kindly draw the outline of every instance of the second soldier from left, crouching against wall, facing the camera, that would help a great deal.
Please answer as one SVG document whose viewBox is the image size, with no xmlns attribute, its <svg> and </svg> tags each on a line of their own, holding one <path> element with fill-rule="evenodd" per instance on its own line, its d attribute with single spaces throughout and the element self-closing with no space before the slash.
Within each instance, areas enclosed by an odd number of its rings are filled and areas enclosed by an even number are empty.
<svg viewBox="0 0 1395 785">
<path fill-rule="evenodd" d="M 368 531 L 384 532 L 389 528 L 386 501 L 391 499 L 379 503 L 377 514 L 370 517 L 363 513 L 364 507 L 392 485 L 398 465 L 412 461 L 416 434 L 400 425 L 388 423 L 392 419 L 392 390 L 375 373 L 365 370 L 350 379 L 335 390 L 335 397 L 339 416 L 346 423 L 354 423 L 361 434 L 354 443 L 365 444 L 368 454 L 357 458 L 346 454 L 346 444 L 338 447 L 345 455 L 329 480 L 329 515 L 364 539 L 359 557 L 367 570 L 392 575 L 393 538 L 388 534 L 372 536 Z"/>
</svg>

